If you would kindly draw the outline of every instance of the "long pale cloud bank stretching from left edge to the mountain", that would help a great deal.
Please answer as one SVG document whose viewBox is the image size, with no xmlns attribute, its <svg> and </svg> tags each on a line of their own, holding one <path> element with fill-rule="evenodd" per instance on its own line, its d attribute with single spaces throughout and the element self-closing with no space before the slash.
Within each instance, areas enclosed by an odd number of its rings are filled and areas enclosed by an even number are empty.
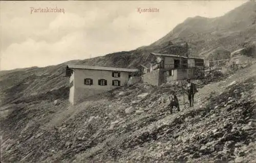
<svg viewBox="0 0 256 163">
<path fill-rule="evenodd" d="M 88 12 L 90 16 L 77 14 L 59 14 L 43 31 L 30 33 L 31 37 L 23 42 L 12 43 L 3 52 L 1 69 L 12 69 L 30 66 L 47 66 L 73 59 L 86 59 L 107 53 L 132 50 L 138 46 L 133 35 L 143 39 L 145 29 L 135 14 L 115 17 L 106 20 L 99 26 L 95 18 L 97 12 Z M 21 21 L 20 19 L 16 19 Z M 24 37 L 26 38 L 26 37 Z M 118 40 L 126 40 L 118 41 Z M 140 40 L 141 41 L 141 40 Z M 144 38 L 144 41 L 147 41 Z M 131 43 L 133 42 L 133 43 Z"/>
</svg>

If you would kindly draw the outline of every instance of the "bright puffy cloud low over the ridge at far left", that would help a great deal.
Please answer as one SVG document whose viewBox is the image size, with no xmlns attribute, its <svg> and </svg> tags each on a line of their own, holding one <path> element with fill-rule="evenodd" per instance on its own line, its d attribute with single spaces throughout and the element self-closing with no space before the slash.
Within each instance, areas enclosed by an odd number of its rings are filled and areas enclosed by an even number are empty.
<svg viewBox="0 0 256 163">
<path fill-rule="evenodd" d="M 80 33 L 72 33 L 55 43 L 36 42 L 31 38 L 23 43 L 13 43 L 2 56 L 1 69 L 53 65 L 81 57 L 80 54 L 88 58 L 90 56 L 81 50 L 83 41 Z"/>
</svg>

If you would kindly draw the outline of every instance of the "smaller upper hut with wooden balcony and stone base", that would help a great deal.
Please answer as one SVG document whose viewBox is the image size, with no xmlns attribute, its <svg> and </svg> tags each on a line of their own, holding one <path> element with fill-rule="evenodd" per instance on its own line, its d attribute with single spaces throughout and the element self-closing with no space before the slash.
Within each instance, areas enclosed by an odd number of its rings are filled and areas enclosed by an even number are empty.
<svg viewBox="0 0 256 163">
<path fill-rule="evenodd" d="M 194 79 L 196 67 L 204 66 L 204 59 L 172 54 L 151 53 L 146 58 L 150 62 L 150 71 L 143 75 L 143 82 L 161 85 L 175 80 Z"/>
</svg>

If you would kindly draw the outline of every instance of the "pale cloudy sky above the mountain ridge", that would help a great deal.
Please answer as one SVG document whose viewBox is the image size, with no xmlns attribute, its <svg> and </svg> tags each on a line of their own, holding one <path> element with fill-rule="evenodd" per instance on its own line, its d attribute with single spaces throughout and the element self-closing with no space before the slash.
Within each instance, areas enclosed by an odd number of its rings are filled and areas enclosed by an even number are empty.
<svg viewBox="0 0 256 163">
<path fill-rule="evenodd" d="M 188 17 L 222 16 L 245 2 L 0 1 L 0 69 L 134 50 L 157 41 Z M 148 8 L 156 12 L 143 12 Z"/>
</svg>

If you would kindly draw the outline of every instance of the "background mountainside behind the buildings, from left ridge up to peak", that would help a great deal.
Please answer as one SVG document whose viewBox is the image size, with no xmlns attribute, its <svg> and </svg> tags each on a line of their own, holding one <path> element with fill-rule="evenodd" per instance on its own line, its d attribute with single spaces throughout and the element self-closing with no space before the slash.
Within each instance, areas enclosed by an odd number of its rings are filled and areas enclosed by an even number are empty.
<svg viewBox="0 0 256 163">
<path fill-rule="evenodd" d="M 56 94 L 61 89 L 68 94 L 68 78 L 65 78 L 65 67 L 68 63 L 138 68 L 145 63 L 151 52 L 164 52 L 169 41 L 187 41 L 190 55 L 206 57 L 218 47 L 232 52 L 242 46 L 256 45 L 256 3 L 247 2 L 224 16 L 217 18 L 188 18 L 163 38 L 149 46 L 143 46 L 129 52 L 118 52 L 102 57 L 76 60 L 56 66 L 43 68 L 31 67 L 0 71 L 0 106 L 23 98 Z M 256 46 L 248 53 L 256 55 Z M 201 54 L 199 54 L 201 53 Z M 222 56 L 226 58 L 226 56 Z M 216 59 L 216 57 L 214 57 Z M 16 91 L 13 91 L 16 90 Z"/>
</svg>

